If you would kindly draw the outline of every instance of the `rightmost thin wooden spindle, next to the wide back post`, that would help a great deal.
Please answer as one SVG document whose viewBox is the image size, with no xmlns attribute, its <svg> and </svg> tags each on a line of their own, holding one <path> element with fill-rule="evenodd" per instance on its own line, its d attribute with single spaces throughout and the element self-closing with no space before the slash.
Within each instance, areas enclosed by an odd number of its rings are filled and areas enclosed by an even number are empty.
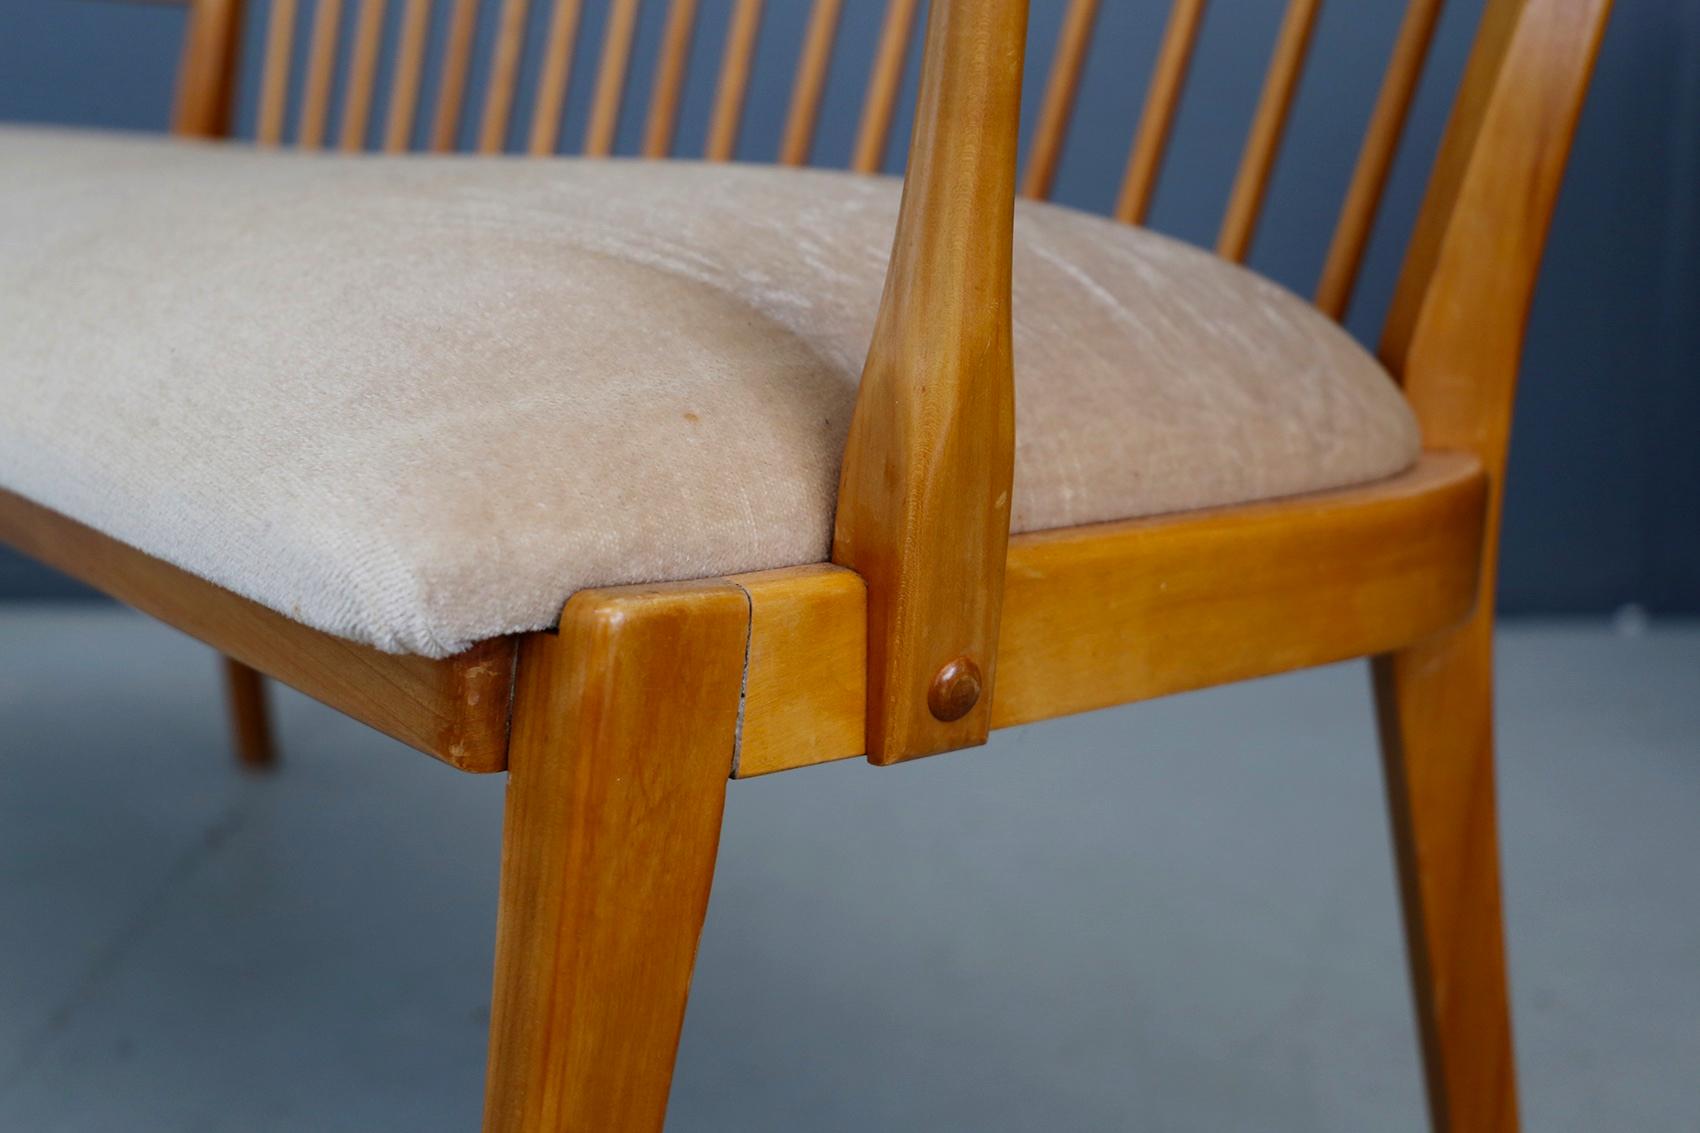
<svg viewBox="0 0 1700 1133">
<path fill-rule="evenodd" d="M 1363 267 L 1363 250 L 1368 247 L 1375 213 L 1380 209 L 1382 194 L 1387 189 L 1387 174 L 1392 170 L 1392 158 L 1399 150 L 1399 138 L 1404 134 L 1404 122 L 1416 97 L 1416 83 L 1428 61 L 1428 46 L 1435 39 L 1442 3 L 1443 0 L 1411 0 L 1404 10 L 1404 22 L 1399 26 L 1399 37 L 1392 48 L 1392 61 L 1387 65 L 1387 77 L 1375 99 L 1363 148 L 1358 151 L 1358 165 L 1352 170 L 1346 202 L 1340 209 L 1340 223 L 1328 245 L 1323 279 L 1316 288 L 1316 306 L 1333 318 L 1341 318 L 1346 313 L 1346 305 L 1352 303 L 1352 291 L 1357 288 L 1358 270 Z"/>
</svg>

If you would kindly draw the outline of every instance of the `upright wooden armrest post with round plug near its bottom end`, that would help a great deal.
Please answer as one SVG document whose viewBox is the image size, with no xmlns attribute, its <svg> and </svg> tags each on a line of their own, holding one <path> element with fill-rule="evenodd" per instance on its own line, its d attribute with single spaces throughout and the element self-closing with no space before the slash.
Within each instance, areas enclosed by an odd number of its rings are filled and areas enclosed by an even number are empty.
<svg viewBox="0 0 1700 1133">
<path fill-rule="evenodd" d="M 838 481 L 833 561 L 869 585 L 874 762 L 984 743 L 1010 539 L 1010 255 L 1025 0 L 928 15 L 910 172 Z M 942 720 L 947 665 L 984 696 Z"/>
</svg>

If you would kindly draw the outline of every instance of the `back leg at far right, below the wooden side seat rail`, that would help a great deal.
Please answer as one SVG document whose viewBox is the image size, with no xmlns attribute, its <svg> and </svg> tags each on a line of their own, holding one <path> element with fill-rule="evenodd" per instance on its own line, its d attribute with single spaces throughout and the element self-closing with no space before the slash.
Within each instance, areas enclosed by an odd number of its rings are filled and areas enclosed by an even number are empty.
<svg viewBox="0 0 1700 1133">
<path fill-rule="evenodd" d="M 1493 611 L 1374 662 L 1430 1119 L 1516 1130 L 1499 908 Z"/>
</svg>

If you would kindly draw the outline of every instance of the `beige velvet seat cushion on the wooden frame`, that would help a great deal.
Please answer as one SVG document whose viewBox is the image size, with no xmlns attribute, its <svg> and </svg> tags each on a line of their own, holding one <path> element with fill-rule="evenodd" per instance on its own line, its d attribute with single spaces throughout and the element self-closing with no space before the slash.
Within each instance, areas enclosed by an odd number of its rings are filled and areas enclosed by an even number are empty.
<svg viewBox="0 0 1700 1133">
<path fill-rule="evenodd" d="M 821 561 L 899 182 L 0 129 L 0 487 L 447 655 L 576 589 Z M 1300 299 L 1017 216 L 1013 524 L 1368 481 L 1418 434 Z"/>
</svg>

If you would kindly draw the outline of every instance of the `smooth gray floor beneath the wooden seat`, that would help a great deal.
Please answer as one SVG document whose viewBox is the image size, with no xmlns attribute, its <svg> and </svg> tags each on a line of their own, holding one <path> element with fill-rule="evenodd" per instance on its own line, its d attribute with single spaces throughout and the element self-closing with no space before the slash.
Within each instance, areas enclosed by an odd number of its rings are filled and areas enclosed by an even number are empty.
<svg viewBox="0 0 1700 1133">
<path fill-rule="evenodd" d="M 670 1130 L 1420 1130 L 1362 667 L 734 784 Z M 1503 636 L 1528 1130 L 1700 1130 L 1700 628 Z M 0 606 L 0 1130 L 473 1130 L 502 781 Z"/>
</svg>

